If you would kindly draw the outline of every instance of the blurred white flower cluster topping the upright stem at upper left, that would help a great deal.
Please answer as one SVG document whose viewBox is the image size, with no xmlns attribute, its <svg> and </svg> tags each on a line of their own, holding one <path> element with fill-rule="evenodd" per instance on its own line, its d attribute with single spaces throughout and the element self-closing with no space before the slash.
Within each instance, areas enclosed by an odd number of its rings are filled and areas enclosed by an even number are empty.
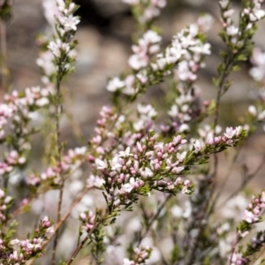
<svg viewBox="0 0 265 265">
<path fill-rule="evenodd" d="M 76 58 L 76 42 L 72 42 L 72 38 L 80 20 L 73 16 L 78 8 L 71 2 L 46 0 L 43 7 L 50 26 L 55 27 L 55 34 L 50 42 L 38 39 L 43 49 L 36 63 L 42 69 L 42 82 L 47 87 L 54 88 L 57 72 L 63 76 L 72 71 L 72 62 Z"/>
</svg>

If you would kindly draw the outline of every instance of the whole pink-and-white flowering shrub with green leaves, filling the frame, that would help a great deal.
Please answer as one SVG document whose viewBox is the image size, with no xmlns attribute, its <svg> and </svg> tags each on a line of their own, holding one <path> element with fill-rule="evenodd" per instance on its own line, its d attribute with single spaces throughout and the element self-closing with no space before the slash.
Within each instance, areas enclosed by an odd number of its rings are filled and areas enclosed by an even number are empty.
<svg viewBox="0 0 265 265">
<path fill-rule="evenodd" d="M 108 80 L 112 104 L 102 106 L 87 146 L 68 149 L 60 137 L 62 83 L 77 57 L 76 4 L 43 2 L 51 27 L 50 34 L 38 39 L 36 63 L 43 87 L 8 91 L 2 71 L 6 94 L 0 104 L 0 264 L 37 264 L 41 257 L 39 264 L 262 264 L 264 230 L 255 224 L 262 223 L 265 191 L 248 204 L 238 194 L 260 167 L 253 174 L 246 170 L 239 190 L 229 204 L 226 201 L 231 216 L 220 212 L 223 190 L 217 189 L 216 178 L 217 153 L 241 148 L 264 123 L 265 56 L 253 42 L 257 22 L 265 17 L 263 1 L 242 1 L 237 22 L 231 1 L 219 1 L 219 35 L 225 49 L 213 79 L 216 99 L 210 102 L 201 102 L 195 87 L 211 54 L 206 34 L 213 18 L 201 16 L 163 48 L 161 30 L 154 23 L 166 0 L 123 2 L 131 5 L 137 24 L 130 70 Z M 11 16 L 12 4 L 0 0 L 2 24 Z M 258 93 L 239 124 L 222 129 L 222 96 L 231 88 L 231 72 L 248 59 Z M 171 84 L 165 93 L 173 95 L 169 102 L 165 98 L 164 106 L 156 107 L 140 102 L 149 87 L 162 83 Z M 34 170 L 31 160 L 33 135 L 41 126 L 34 123 L 36 115 L 49 125 L 44 141 L 52 147 L 43 154 L 41 170 Z M 22 199 L 12 185 L 14 175 L 23 178 L 27 196 Z M 57 208 L 49 205 L 56 216 L 39 210 L 37 224 L 22 239 L 20 216 L 29 219 L 34 203 L 45 209 L 44 199 L 52 193 L 58 195 Z M 69 216 L 76 220 L 73 231 Z M 67 233 L 74 245 L 62 254 L 59 245 Z"/>
</svg>

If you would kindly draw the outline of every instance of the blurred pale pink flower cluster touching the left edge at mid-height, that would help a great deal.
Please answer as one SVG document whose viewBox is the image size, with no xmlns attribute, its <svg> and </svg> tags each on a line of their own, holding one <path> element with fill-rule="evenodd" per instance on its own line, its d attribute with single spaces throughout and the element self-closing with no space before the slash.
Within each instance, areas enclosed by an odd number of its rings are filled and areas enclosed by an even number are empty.
<svg viewBox="0 0 265 265">
<path fill-rule="evenodd" d="M 0 144 L 11 150 L 0 162 L 0 175 L 26 163 L 29 136 L 35 132 L 30 121 L 37 117 L 36 110 L 48 104 L 49 90 L 46 88 L 31 87 L 21 93 L 13 91 L 11 95 L 4 95 L 4 102 L 0 104 Z"/>
</svg>

